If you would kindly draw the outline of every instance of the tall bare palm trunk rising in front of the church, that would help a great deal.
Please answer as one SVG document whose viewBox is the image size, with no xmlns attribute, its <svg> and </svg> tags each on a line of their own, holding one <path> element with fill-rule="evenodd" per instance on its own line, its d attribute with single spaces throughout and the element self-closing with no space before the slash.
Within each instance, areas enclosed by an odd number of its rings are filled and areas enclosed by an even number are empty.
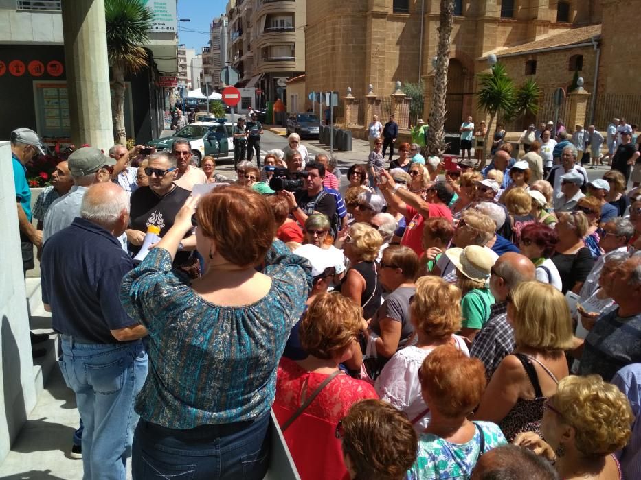
<svg viewBox="0 0 641 480">
<path fill-rule="evenodd" d="M 445 152 L 445 99 L 447 97 L 447 67 L 449 66 L 449 45 L 452 34 L 454 13 L 453 0 L 440 0 L 438 15 L 438 47 L 434 71 L 434 95 L 429 110 L 427 130 L 427 154 L 440 156 Z"/>
</svg>

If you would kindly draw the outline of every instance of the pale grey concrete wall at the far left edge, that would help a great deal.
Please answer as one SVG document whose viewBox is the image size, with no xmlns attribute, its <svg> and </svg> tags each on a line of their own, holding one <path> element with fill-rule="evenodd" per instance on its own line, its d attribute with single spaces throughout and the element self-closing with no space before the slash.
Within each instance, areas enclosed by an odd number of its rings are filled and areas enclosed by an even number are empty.
<svg viewBox="0 0 641 480">
<path fill-rule="evenodd" d="M 9 142 L 0 142 L 0 463 L 36 405 Z"/>
</svg>

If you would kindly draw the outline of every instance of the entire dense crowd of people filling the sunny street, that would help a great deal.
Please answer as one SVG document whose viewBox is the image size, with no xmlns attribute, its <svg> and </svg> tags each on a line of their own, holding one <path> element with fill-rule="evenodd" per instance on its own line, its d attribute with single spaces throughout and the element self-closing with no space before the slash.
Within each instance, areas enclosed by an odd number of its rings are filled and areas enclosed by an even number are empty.
<svg viewBox="0 0 641 480">
<path fill-rule="evenodd" d="M 41 231 L 16 130 L 85 478 L 262 479 L 272 410 L 303 479 L 638 478 L 641 191 L 551 135 L 481 171 L 376 136 L 346 178 L 295 134 L 236 179 L 84 147 Z"/>
</svg>

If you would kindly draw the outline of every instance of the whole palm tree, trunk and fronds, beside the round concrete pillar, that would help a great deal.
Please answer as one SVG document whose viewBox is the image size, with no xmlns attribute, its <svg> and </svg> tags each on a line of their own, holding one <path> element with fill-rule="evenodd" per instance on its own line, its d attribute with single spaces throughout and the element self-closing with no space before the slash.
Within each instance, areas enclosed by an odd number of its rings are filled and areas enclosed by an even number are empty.
<svg viewBox="0 0 641 480">
<path fill-rule="evenodd" d="M 127 142 L 124 126 L 124 75 L 147 66 L 147 52 L 153 12 L 142 0 L 104 0 L 107 53 L 113 73 L 113 128 L 116 143 Z"/>
</svg>

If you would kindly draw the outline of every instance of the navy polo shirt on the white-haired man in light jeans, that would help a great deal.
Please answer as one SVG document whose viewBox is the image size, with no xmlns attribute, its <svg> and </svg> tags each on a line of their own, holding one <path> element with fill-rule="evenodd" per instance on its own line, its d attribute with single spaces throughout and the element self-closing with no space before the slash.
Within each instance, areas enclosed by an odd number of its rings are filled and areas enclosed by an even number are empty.
<svg viewBox="0 0 641 480">
<path fill-rule="evenodd" d="M 122 277 L 133 266 L 117 239 L 89 220 L 76 217 L 52 235 L 40 274 L 54 330 L 95 344 L 119 343 L 110 330 L 137 323 L 120 303 Z"/>
</svg>

